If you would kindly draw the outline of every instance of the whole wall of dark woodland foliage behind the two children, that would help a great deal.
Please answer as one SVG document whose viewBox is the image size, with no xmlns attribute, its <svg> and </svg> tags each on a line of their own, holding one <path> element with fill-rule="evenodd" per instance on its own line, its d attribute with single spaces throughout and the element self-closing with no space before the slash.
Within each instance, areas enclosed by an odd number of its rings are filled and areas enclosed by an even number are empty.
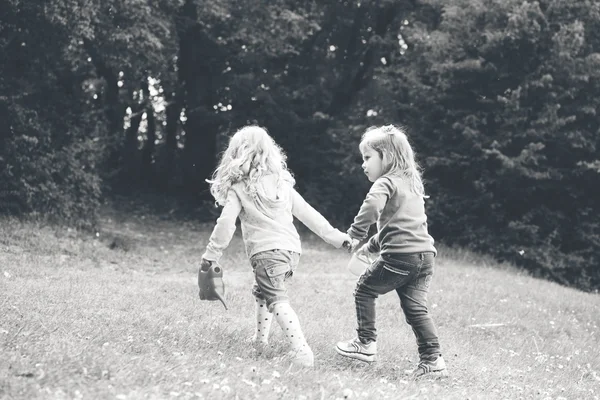
<svg viewBox="0 0 600 400">
<path fill-rule="evenodd" d="M 256 122 L 305 197 L 346 226 L 368 189 L 360 135 L 396 123 L 438 241 L 600 287 L 597 2 L 1 7 L 4 213 L 81 223 L 101 189 L 208 200 L 227 135 Z"/>
</svg>

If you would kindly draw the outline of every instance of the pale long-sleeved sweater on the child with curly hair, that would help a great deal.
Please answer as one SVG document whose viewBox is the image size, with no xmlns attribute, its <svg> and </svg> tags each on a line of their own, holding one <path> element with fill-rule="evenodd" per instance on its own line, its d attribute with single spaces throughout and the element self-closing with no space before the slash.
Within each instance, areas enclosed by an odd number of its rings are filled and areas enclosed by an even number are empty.
<svg viewBox="0 0 600 400">
<path fill-rule="evenodd" d="M 342 247 L 344 241 L 348 240 L 345 233 L 333 228 L 289 182 L 268 175 L 258 184 L 258 192 L 263 197 L 248 193 L 242 182 L 231 187 L 206 252 L 202 255 L 204 259 L 218 261 L 221 258 L 235 233 L 238 217 L 248 257 L 274 249 L 301 253 L 294 217 L 336 248 Z"/>
</svg>

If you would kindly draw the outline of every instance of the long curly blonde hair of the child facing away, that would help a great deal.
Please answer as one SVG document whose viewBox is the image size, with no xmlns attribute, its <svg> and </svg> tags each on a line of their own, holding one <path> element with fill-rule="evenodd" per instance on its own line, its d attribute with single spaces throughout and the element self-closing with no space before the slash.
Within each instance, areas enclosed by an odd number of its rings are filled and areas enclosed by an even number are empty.
<svg viewBox="0 0 600 400">
<path fill-rule="evenodd" d="M 265 196 L 258 182 L 262 177 L 272 174 L 278 177 L 278 182 L 283 180 L 291 186 L 295 184 L 281 147 L 265 128 L 248 125 L 229 139 L 229 145 L 223 152 L 212 179 L 206 181 L 210 184 L 210 192 L 217 204 L 222 206 L 225 205 L 231 186 L 238 182 L 245 183 L 244 190 L 252 198 L 258 196 L 263 202 L 269 203 L 273 200 Z"/>
</svg>

